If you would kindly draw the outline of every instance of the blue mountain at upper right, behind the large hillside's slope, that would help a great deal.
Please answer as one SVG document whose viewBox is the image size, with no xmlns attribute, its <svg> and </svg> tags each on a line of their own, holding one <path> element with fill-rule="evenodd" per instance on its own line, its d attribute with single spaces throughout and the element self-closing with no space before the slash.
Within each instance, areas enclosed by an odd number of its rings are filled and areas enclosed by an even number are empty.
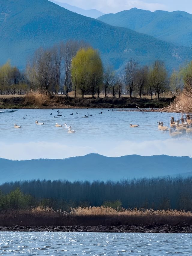
<svg viewBox="0 0 192 256">
<path fill-rule="evenodd" d="M 183 11 L 145 11 L 137 8 L 98 18 L 113 26 L 133 29 L 155 38 L 189 47 L 192 44 L 192 14 Z"/>
</svg>

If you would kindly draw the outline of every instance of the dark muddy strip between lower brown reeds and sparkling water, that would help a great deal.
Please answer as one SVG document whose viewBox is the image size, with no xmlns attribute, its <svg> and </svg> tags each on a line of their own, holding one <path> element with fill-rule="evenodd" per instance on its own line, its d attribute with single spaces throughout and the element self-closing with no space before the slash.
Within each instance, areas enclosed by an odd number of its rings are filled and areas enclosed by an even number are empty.
<svg viewBox="0 0 192 256">
<path fill-rule="evenodd" d="M 192 233 L 192 225 L 117 225 L 117 226 L 11 226 L 0 231 L 29 232 L 113 232 L 113 233 Z"/>
</svg>

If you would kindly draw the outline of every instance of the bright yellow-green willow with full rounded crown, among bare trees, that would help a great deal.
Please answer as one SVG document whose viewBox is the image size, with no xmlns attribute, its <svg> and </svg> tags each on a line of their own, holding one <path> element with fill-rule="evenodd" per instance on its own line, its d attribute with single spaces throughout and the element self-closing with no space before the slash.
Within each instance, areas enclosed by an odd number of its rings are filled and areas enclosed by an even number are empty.
<svg viewBox="0 0 192 256">
<path fill-rule="evenodd" d="M 82 98 L 87 91 L 94 98 L 103 76 L 103 65 L 98 51 L 92 48 L 80 49 L 72 59 L 71 74 L 73 84 L 81 91 Z"/>
</svg>

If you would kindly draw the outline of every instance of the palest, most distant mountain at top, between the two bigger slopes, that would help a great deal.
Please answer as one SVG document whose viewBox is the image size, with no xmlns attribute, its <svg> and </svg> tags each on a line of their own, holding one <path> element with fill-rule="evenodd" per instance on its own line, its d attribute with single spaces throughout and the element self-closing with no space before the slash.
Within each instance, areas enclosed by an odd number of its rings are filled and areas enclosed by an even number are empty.
<svg viewBox="0 0 192 256">
<path fill-rule="evenodd" d="M 78 14 L 81 14 L 83 16 L 87 16 L 87 17 L 91 17 L 91 18 L 98 18 L 100 17 L 101 15 L 104 15 L 104 13 L 96 10 L 96 9 L 91 9 L 91 10 L 84 10 L 84 9 L 81 9 L 79 7 L 76 7 L 76 6 L 73 6 L 73 5 L 69 5 L 69 4 L 66 4 L 66 3 L 60 3 L 58 1 L 54 1 L 54 0 L 49 0 L 53 3 L 55 3 L 56 5 L 59 5 L 69 11 L 72 11 L 72 12 L 76 12 Z"/>
</svg>

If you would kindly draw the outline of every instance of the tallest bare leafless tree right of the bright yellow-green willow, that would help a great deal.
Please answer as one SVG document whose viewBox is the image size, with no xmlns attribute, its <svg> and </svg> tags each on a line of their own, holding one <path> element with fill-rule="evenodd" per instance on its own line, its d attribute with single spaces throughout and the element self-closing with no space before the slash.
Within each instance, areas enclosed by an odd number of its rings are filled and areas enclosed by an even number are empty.
<svg viewBox="0 0 192 256">
<path fill-rule="evenodd" d="M 138 62 L 133 58 L 131 58 L 130 61 L 125 66 L 124 80 L 125 80 L 125 85 L 129 92 L 130 98 L 132 98 L 132 93 L 134 92 L 136 87 L 137 68 L 138 68 Z"/>
</svg>

